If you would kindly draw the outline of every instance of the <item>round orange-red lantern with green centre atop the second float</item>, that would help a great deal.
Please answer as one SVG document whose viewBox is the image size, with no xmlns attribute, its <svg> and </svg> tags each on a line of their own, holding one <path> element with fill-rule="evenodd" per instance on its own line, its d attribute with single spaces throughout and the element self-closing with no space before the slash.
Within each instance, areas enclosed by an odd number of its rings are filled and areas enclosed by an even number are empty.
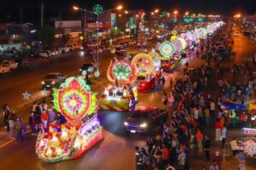
<svg viewBox="0 0 256 170">
<path fill-rule="evenodd" d="M 127 60 L 117 60 L 108 66 L 107 77 L 110 82 L 134 82 L 137 71 Z"/>
</svg>

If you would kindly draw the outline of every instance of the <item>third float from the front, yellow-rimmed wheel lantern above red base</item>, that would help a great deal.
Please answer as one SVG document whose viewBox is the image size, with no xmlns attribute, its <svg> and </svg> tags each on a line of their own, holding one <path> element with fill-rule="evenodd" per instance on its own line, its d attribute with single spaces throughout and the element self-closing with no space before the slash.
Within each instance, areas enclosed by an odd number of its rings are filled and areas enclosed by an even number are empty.
<svg viewBox="0 0 256 170">
<path fill-rule="evenodd" d="M 156 78 L 160 78 L 160 70 L 154 71 L 154 59 L 149 54 L 137 54 L 131 60 L 131 65 L 137 70 L 135 84 L 140 92 L 149 92 L 154 89 Z"/>
</svg>

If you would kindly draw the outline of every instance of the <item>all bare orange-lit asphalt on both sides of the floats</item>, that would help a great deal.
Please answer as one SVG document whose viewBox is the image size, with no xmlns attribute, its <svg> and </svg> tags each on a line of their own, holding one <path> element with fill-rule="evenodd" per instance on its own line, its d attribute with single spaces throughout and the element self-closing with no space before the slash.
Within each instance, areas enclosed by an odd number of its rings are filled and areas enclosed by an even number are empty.
<svg viewBox="0 0 256 170">
<path fill-rule="evenodd" d="M 236 57 L 234 61 L 245 62 L 253 57 L 256 53 L 255 42 L 250 42 L 246 37 L 240 36 L 235 38 L 234 44 Z M 241 48 L 242 47 L 242 48 Z M 150 47 L 148 47 L 150 48 Z M 136 52 L 136 48 L 131 48 Z M 246 55 L 245 55 L 246 54 Z M 110 56 L 102 57 L 102 67 L 107 69 Z M 65 54 L 60 58 L 53 61 L 43 61 L 32 65 L 26 69 L 20 69 L 11 73 L 11 75 L 1 76 L 0 80 L 3 83 L 0 84 L 0 101 L 13 102 L 12 105 L 19 105 L 24 102 L 22 100 L 22 93 L 28 90 L 38 90 L 40 88 L 40 82 L 42 78 L 49 71 L 61 71 L 67 76 L 77 75 L 80 65 L 84 62 L 90 61 L 90 57 L 80 57 L 78 53 Z M 191 66 L 201 65 L 200 59 L 191 59 L 194 63 Z M 198 62 L 197 62 L 198 60 Z M 233 61 L 233 62 L 234 62 Z M 232 62 L 232 61 L 230 61 Z M 184 60 L 180 62 L 182 66 Z M 104 69 L 103 69 L 104 71 Z M 174 73 L 166 74 L 166 88 L 168 88 L 168 79 L 170 77 L 176 77 L 181 74 L 182 68 L 178 67 Z M 27 78 L 29 77 L 29 79 Z M 14 82 L 9 82 L 14 81 Z M 18 89 L 16 89 L 18 88 Z M 161 93 L 148 93 L 139 94 L 138 105 L 155 105 L 163 107 L 161 102 Z M 15 100 L 15 101 L 10 101 Z M 135 169 L 135 146 L 145 145 L 145 139 L 147 138 L 142 134 L 129 134 L 125 133 L 123 128 L 123 122 L 128 116 L 128 113 L 120 113 L 115 111 L 101 111 L 99 113 L 100 121 L 106 132 L 105 139 L 102 142 L 96 144 L 91 150 L 73 161 L 61 161 L 59 163 L 45 163 L 38 160 L 35 153 L 35 138 L 30 135 L 26 135 L 25 141 L 19 144 L 8 144 L 0 149 L 0 169 L 1 170 L 55 170 L 55 169 L 93 169 L 93 170 L 132 170 Z M 196 158 L 195 158 L 196 159 Z M 194 161 L 195 168 L 197 165 L 202 166 L 202 161 Z M 251 167 L 256 167 L 255 163 L 251 164 Z M 250 168 L 249 168 L 250 169 Z M 253 168 L 251 168 L 253 169 Z"/>
</svg>

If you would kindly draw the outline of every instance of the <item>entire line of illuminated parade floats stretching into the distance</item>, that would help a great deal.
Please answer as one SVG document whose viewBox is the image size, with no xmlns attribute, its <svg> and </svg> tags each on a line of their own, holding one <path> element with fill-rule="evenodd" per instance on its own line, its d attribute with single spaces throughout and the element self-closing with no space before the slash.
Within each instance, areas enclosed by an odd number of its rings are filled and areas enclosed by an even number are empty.
<svg viewBox="0 0 256 170">
<path fill-rule="evenodd" d="M 212 23 L 207 30 L 213 33 L 222 25 L 222 22 Z M 179 37 L 176 34 L 173 31 L 171 41 L 157 44 L 149 54 L 137 54 L 131 61 L 111 61 L 107 77 L 113 85 L 103 89 L 99 105 L 96 105 L 96 93 L 81 77 L 69 77 L 60 88 L 54 88 L 54 109 L 67 122 L 53 122 L 48 129 L 43 127 L 38 133 L 36 153 L 39 159 L 47 162 L 74 159 L 102 140 L 104 133 L 97 111 L 134 111 L 138 102 L 137 91 L 153 90 L 162 71 L 173 71 L 175 61 L 181 59 L 187 48 L 206 37 L 206 29 L 196 29 Z"/>
</svg>

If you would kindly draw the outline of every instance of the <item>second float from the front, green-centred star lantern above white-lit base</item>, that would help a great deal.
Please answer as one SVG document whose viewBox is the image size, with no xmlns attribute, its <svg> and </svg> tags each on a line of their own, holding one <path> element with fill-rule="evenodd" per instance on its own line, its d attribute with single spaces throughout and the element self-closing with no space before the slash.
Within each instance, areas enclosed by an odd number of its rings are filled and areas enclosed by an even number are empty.
<svg viewBox="0 0 256 170">
<path fill-rule="evenodd" d="M 103 88 L 100 107 L 102 110 L 129 111 L 137 103 L 137 88 L 132 82 L 137 79 L 137 71 L 127 60 L 116 60 L 108 66 L 107 77 L 113 85 Z"/>
</svg>

